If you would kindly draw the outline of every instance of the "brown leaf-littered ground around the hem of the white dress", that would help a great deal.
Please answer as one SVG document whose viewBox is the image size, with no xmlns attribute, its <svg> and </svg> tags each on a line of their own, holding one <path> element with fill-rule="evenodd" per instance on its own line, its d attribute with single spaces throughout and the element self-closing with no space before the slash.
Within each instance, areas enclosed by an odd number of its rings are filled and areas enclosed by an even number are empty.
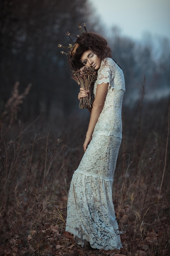
<svg viewBox="0 0 170 256">
<path fill-rule="evenodd" d="M 64 194 L 64 191 L 62 192 Z M 91 250 L 88 245 L 81 248 L 75 244 L 73 236 L 65 232 L 65 195 L 56 197 L 56 202 L 51 202 L 53 203 L 51 207 L 48 202 L 44 200 L 38 202 L 37 199 L 31 205 L 28 203 L 26 194 L 20 195 L 18 208 L 11 206 L 6 213 L 5 209 L 1 211 L 4 222 L 1 226 L 0 255 L 168 256 L 170 252 L 169 207 L 164 198 L 163 204 L 159 204 L 160 212 L 154 212 L 157 205 L 156 197 L 155 193 L 152 198 L 154 202 L 150 209 L 145 209 L 143 217 L 141 212 L 133 210 L 129 204 L 125 204 L 123 209 L 119 210 L 117 218 L 121 231 L 124 231 L 121 235 L 123 248 L 120 251 L 104 251 Z"/>
</svg>

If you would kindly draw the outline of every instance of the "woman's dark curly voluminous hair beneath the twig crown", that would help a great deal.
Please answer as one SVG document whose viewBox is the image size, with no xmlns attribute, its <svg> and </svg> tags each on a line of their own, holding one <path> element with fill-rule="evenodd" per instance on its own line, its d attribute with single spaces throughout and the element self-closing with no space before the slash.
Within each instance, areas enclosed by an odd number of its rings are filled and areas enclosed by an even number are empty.
<svg viewBox="0 0 170 256">
<path fill-rule="evenodd" d="M 111 49 L 107 41 L 100 35 L 93 32 L 82 33 L 76 40 L 76 51 L 68 56 L 68 63 L 72 70 L 82 67 L 81 57 L 84 52 L 92 50 L 101 60 L 106 57 L 111 58 Z"/>
</svg>

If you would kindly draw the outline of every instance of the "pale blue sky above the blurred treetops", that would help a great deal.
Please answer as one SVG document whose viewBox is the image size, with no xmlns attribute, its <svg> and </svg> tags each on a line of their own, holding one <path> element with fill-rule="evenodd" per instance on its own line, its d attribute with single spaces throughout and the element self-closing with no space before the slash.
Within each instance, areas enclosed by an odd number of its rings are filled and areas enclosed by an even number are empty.
<svg viewBox="0 0 170 256">
<path fill-rule="evenodd" d="M 170 39 L 170 0 L 89 0 L 106 26 L 142 39 L 145 32 Z"/>
</svg>

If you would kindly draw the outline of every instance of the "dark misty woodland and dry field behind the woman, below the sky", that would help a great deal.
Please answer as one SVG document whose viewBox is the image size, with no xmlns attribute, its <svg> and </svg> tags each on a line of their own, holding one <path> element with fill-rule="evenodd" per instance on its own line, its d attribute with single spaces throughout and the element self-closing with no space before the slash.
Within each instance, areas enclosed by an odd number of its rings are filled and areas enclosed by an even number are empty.
<svg viewBox="0 0 170 256">
<path fill-rule="evenodd" d="M 121 252 L 77 248 L 64 231 L 87 110 L 66 56 L 78 23 L 103 35 L 124 71 L 113 201 Z M 88 0 L 0 1 L 0 255 L 170 254 L 170 41 L 106 31 Z"/>
</svg>

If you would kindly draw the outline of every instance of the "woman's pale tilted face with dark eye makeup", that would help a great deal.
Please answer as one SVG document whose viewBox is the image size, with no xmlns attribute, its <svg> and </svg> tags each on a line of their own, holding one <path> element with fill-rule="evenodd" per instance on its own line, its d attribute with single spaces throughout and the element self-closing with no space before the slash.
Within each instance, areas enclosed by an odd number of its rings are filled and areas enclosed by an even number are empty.
<svg viewBox="0 0 170 256">
<path fill-rule="evenodd" d="M 82 55 L 81 61 L 84 66 L 92 66 L 95 68 L 95 70 L 98 70 L 102 60 L 96 54 L 94 54 L 92 50 L 88 50 Z"/>
</svg>

